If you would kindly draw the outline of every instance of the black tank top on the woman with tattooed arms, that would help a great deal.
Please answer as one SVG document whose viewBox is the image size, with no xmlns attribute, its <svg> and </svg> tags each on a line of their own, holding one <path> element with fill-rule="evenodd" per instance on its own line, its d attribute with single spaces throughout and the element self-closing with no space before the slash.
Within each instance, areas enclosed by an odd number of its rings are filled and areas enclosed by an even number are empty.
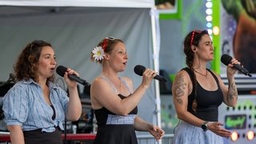
<svg viewBox="0 0 256 144">
<path fill-rule="evenodd" d="M 186 72 L 190 75 L 191 81 L 193 81 L 193 72 L 188 68 L 184 68 Z M 218 122 L 218 106 L 223 102 L 222 90 L 219 87 L 218 78 L 209 69 L 206 69 L 213 75 L 215 81 L 217 82 L 218 89 L 214 91 L 205 90 L 197 81 L 197 86 L 193 86 L 192 93 L 188 97 L 187 110 L 194 114 L 197 118 L 209 122 Z M 192 110 L 192 102 L 194 101 L 194 90 L 197 90 L 196 101 L 198 103 L 197 110 L 194 112 Z"/>
</svg>

